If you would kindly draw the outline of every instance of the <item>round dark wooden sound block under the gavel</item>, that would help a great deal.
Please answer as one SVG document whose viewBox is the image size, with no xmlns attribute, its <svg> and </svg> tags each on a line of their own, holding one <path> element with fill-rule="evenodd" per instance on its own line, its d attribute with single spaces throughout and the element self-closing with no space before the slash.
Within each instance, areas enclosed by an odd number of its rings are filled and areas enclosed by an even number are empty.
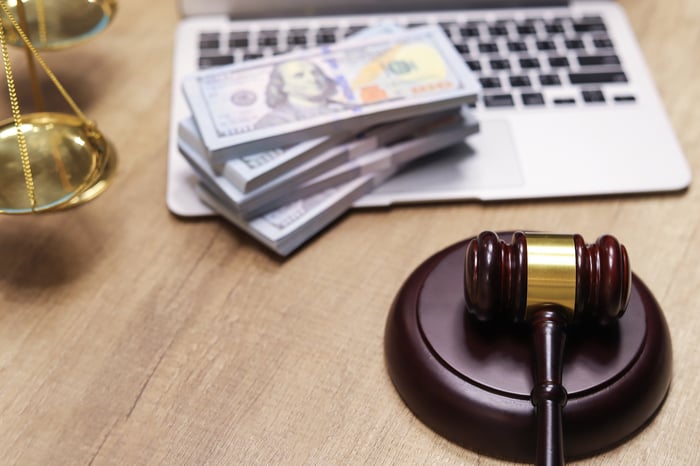
<svg viewBox="0 0 700 466">
<path fill-rule="evenodd" d="M 533 462 L 530 329 L 467 315 L 464 256 L 470 239 L 426 260 L 396 296 L 385 332 L 389 375 L 411 411 L 440 435 L 490 456 Z M 618 322 L 567 331 L 567 458 L 612 448 L 639 431 L 663 403 L 670 380 L 666 321 L 633 275 L 630 304 Z"/>
</svg>

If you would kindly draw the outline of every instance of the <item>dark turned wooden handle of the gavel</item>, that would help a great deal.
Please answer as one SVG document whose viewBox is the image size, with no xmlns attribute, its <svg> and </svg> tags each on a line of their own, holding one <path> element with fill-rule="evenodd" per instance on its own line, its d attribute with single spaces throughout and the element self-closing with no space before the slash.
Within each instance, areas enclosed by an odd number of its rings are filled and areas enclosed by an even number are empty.
<svg viewBox="0 0 700 466">
<path fill-rule="evenodd" d="M 566 389 L 562 385 L 562 359 L 566 320 L 561 312 L 543 308 L 531 318 L 535 356 L 535 385 L 530 399 L 537 411 L 537 466 L 564 464 L 562 408 Z"/>
</svg>

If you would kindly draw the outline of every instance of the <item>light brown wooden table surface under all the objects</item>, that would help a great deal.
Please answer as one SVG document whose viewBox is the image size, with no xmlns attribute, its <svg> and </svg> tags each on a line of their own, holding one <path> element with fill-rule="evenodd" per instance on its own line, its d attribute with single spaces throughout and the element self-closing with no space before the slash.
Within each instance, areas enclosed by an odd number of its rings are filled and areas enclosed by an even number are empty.
<svg viewBox="0 0 700 466">
<path fill-rule="evenodd" d="M 622 4 L 697 176 L 700 3 Z M 697 185 L 354 211 L 282 261 L 224 221 L 166 208 L 178 12 L 173 0 L 119 9 L 99 37 L 47 55 L 116 145 L 118 178 L 83 207 L 0 218 L 0 462 L 499 464 L 410 413 L 387 375 L 384 325 L 437 250 L 486 229 L 537 229 L 618 237 L 672 335 L 658 416 L 581 463 L 700 464 Z"/>
</svg>

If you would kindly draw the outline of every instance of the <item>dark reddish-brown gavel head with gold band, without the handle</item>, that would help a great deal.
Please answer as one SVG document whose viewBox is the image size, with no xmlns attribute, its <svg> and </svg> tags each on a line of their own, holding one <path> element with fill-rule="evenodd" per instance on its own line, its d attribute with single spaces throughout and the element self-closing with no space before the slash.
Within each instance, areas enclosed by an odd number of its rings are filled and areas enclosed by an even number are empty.
<svg viewBox="0 0 700 466">
<path fill-rule="evenodd" d="M 483 232 L 467 245 L 464 296 L 479 320 L 527 320 L 543 307 L 567 320 L 607 324 L 625 312 L 632 272 L 627 250 L 609 235 L 516 232 L 510 244 Z"/>
</svg>

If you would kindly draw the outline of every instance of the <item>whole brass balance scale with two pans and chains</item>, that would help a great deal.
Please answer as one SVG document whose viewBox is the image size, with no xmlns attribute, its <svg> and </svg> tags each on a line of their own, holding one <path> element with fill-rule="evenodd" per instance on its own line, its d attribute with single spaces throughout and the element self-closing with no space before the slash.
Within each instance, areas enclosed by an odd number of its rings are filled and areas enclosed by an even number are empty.
<svg viewBox="0 0 700 466">
<path fill-rule="evenodd" d="M 31 214 L 81 205 L 114 177 L 112 144 L 76 103 L 39 55 L 104 30 L 116 0 L 0 0 L 0 47 L 12 116 L 0 121 L 0 213 Z M 24 49 L 34 112 L 22 114 L 8 47 Z M 44 109 L 37 66 L 73 114 Z"/>
</svg>

